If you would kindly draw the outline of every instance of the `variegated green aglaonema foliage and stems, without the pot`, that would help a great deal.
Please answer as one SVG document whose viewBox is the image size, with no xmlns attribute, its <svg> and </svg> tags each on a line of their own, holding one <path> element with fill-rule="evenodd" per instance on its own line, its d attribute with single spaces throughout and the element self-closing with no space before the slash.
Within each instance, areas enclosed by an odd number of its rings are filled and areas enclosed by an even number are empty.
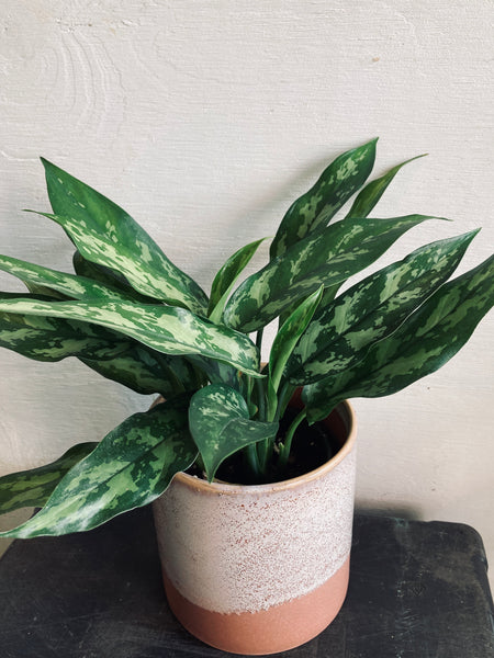
<svg viewBox="0 0 494 658">
<path fill-rule="evenodd" d="M 344 285 L 434 218 L 369 217 L 406 163 L 367 182 L 375 144 L 332 162 L 287 212 L 269 262 L 238 283 L 262 239 L 240 248 L 209 297 L 127 213 L 43 160 L 53 212 L 41 214 L 74 243 L 75 273 L 0 257 L 29 291 L 0 295 L 0 344 L 38 361 L 75 356 L 166 401 L 99 443 L 0 478 L 1 512 L 41 508 L 2 536 L 92 529 L 151 502 L 192 465 L 209 480 L 232 460 L 233 483 L 283 479 L 301 422 L 346 398 L 398 392 L 458 352 L 494 304 L 494 257 L 451 279 L 476 230 Z M 262 365 L 263 329 L 276 319 Z M 285 422 L 296 389 L 303 405 Z"/>
</svg>

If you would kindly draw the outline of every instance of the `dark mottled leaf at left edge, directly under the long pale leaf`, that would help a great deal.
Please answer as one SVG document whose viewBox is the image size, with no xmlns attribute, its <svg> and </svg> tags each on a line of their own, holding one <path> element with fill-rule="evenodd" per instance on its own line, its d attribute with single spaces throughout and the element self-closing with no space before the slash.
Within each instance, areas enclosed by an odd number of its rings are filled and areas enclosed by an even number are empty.
<svg viewBox="0 0 494 658">
<path fill-rule="evenodd" d="M 0 293 L 0 305 L 38 302 L 32 295 Z M 0 347 L 36 361 L 54 362 L 67 356 L 112 359 L 125 352 L 130 342 L 126 337 L 87 322 L 0 311 Z"/>
</svg>

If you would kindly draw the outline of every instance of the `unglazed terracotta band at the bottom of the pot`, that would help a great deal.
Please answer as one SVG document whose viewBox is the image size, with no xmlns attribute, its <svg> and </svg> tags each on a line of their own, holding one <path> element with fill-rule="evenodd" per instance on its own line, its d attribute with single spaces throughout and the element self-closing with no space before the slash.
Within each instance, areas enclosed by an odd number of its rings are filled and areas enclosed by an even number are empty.
<svg viewBox="0 0 494 658">
<path fill-rule="evenodd" d="M 173 614 L 192 635 L 224 651 L 260 656 L 297 647 L 330 624 L 347 593 L 349 563 L 348 557 L 334 576 L 308 594 L 254 613 L 205 610 L 182 597 L 166 575 L 164 581 Z"/>
</svg>

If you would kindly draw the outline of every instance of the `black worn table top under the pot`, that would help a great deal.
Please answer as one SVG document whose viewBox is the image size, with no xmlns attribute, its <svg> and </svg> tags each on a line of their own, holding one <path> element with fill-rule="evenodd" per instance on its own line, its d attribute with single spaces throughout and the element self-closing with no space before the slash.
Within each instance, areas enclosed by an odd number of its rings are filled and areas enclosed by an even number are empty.
<svg viewBox="0 0 494 658">
<path fill-rule="evenodd" d="M 457 523 L 357 513 L 347 599 L 287 658 L 492 658 L 480 535 Z M 91 532 L 14 542 L 0 559 L 2 658 L 228 656 L 165 599 L 149 508 Z"/>
</svg>

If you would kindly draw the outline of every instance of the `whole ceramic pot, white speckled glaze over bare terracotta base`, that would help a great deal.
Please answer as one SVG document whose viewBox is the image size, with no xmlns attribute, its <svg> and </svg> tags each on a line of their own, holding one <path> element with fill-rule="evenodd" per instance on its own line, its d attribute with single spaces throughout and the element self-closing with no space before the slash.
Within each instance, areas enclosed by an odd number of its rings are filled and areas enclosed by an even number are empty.
<svg viewBox="0 0 494 658">
<path fill-rule="evenodd" d="M 179 473 L 154 503 L 165 588 L 177 619 L 234 654 L 283 651 L 318 635 L 348 587 L 356 421 L 344 402 L 324 421 L 339 451 L 269 485 Z"/>
</svg>

